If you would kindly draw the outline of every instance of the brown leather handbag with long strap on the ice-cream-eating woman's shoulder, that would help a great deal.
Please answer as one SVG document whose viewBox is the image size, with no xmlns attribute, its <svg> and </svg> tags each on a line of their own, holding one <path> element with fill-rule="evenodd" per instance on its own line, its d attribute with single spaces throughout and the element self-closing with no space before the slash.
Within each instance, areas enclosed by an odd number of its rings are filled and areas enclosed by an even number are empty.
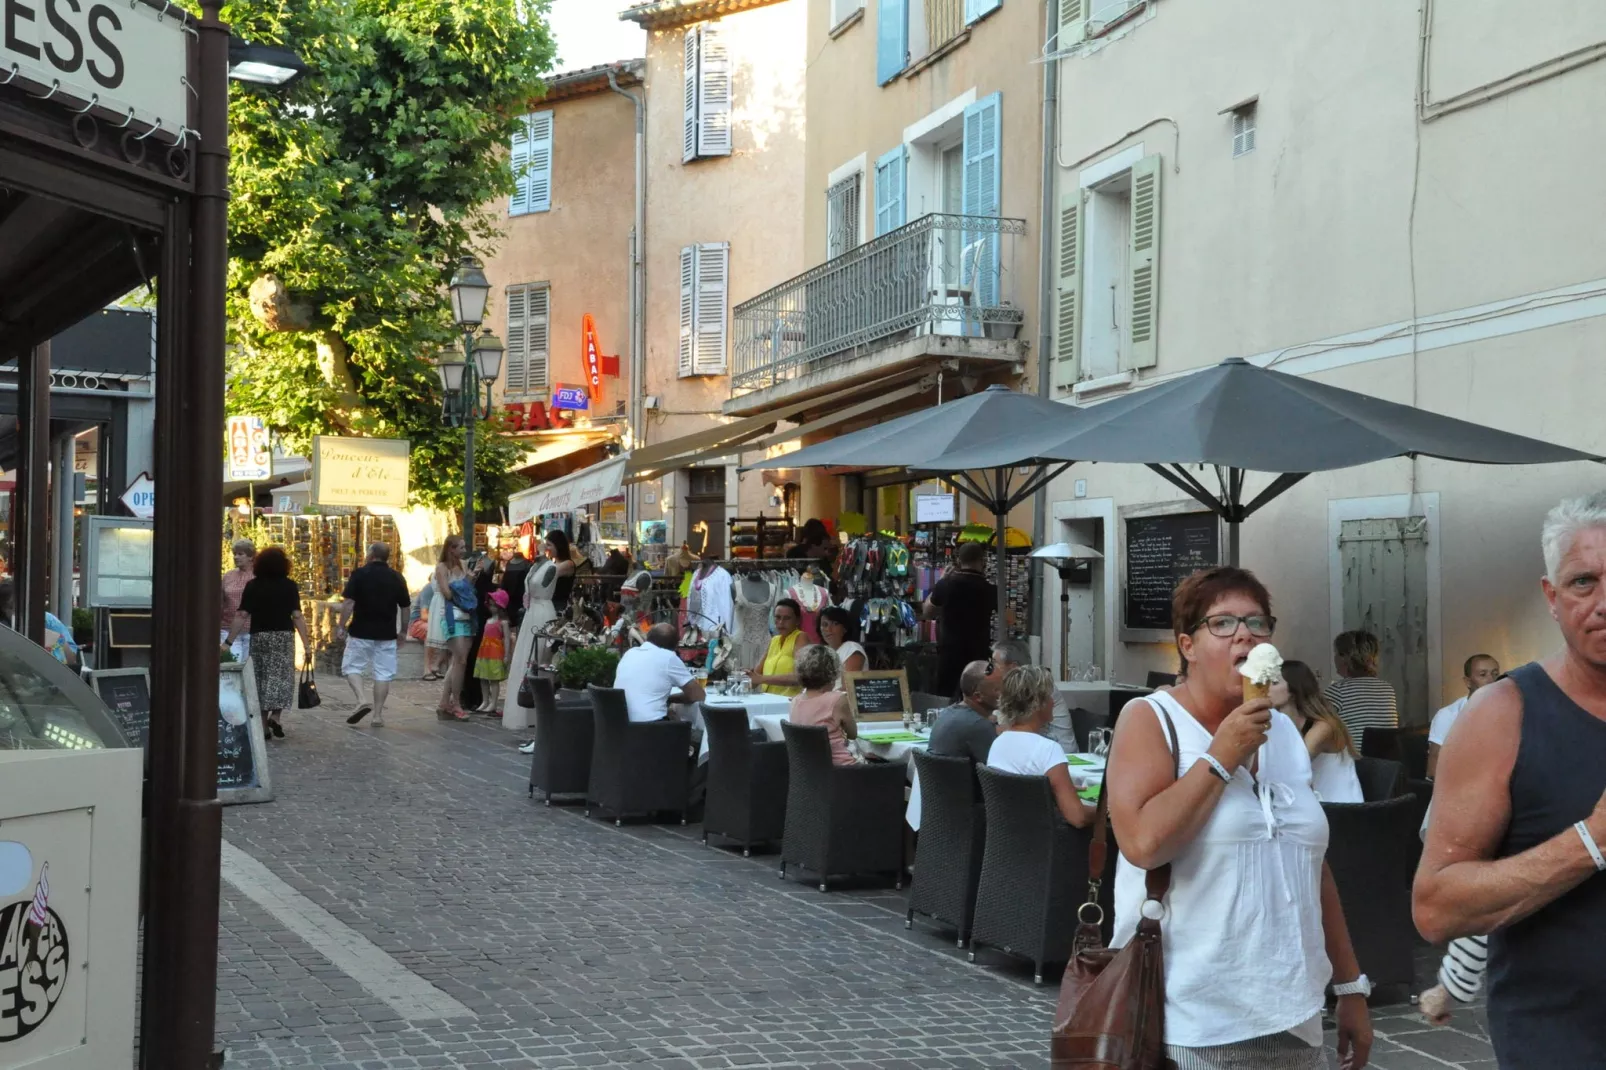
<svg viewBox="0 0 1606 1070">
<path fill-rule="evenodd" d="M 1160 710 L 1179 755 L 1177 728 Z M 1087 848 L 1087 901 L 1076 911 L 1071 964 L 1060 982 L 1054 1015 L 1054 1070 L 1174 1070 L 1166 1059 L 1166 962 L 1156 909 L 1171 887 L 1171 864 L 1150 869 L 1148 898 L 1137 933 L 1124 948 L 1103 946 L 1099 885 L 1110 850 L 1110 808 L 1099 792 L 1094 840 Z M 1155 903 L 1156 908 L 1150 908 Z M 1155 917 L 1150 917 L 1155 914 Z"/>
</svg>

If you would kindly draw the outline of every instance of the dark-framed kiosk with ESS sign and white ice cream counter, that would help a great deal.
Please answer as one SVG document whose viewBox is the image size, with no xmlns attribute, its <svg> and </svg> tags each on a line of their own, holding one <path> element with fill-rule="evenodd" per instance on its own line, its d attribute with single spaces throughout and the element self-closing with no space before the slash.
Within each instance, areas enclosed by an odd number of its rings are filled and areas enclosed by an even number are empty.
<svg viewBox="0 0 1606 1070">
<path fill-rule="evenodd" d="M 151 725 L 63 728 L 75 680 L 0 675 L 0 1065 L 214 1065 L 217 559 L 230 34 L 164 0 L 0 0 L 0 360 L 16 361 L 16 627 L 43 638 L 50 582 L 48 339 L 157 294 Z M 47 655 L 48 657 L 48 655 Z M 26 660 L 26 659 L 24 659 Z M 47 667 L 48 668 L 48 667 Z M 45 670 L 40 670 L 45 672 Z M 48 675 L 48 673 L 47 673 Z M 14 680 L 13 680 L 14 676 Z M 82 686 L 82 684 L 79 684 Z M 93 704 L 93 696 L 90 696 Z M 145 874 L 138 847 L 146 853 Z"/>
</svg>

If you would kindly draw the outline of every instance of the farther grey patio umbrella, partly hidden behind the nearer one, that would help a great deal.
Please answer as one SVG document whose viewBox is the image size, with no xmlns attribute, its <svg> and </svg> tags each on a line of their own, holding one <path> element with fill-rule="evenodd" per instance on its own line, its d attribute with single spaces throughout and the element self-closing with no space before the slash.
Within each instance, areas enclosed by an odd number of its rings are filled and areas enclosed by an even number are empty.
<svg viewBox="0 0 1606 1070">
<path fill-rule="evenodd" d="M 758 468 L 903 468 L 911 477 L 957 484 L 993 511 L 997 540 L 997 636 L 1005 636 L 1009 561 L 1004 527 L 1009 511 L 1049 485 L 1070 459 L 1042 455 L 1087 419 L 1086 410 L 989 386 L 978 394 L 923 408 L 885 424 L 744 466 Z M 952 463 L 951 458 L 962 458 Z M 1028 469 L 1020 472 L 1020 469 Z"/>
</svg>

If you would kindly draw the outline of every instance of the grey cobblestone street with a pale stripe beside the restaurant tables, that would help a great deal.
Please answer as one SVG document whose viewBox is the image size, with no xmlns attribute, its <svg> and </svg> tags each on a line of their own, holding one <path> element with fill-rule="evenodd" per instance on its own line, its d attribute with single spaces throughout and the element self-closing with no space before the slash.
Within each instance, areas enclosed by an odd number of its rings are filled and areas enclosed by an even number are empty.
<svg viewBox="0 0 1606 1070">
<path fill-rule="evenodd" d="M 270 747 L 276 802 L 225 819 L 230 1067 L 1047 1065 L 1054 985 L 906 930 L 899 893 L 532 802 L 514 734 L 438 723 L 432 684 L 377 729 L 323 692 Z M 1494 1067 L 1481 1015 L 1375 1022 L 1383 1070 Z"/>
</svg>

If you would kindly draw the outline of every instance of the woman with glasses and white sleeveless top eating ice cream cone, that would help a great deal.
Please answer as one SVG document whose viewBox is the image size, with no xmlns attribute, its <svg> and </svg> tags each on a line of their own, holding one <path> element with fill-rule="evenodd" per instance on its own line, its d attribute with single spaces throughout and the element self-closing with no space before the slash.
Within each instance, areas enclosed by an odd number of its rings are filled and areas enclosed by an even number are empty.
<svg viewBox="0 0 1606 1070">
<path fill-rule="evenodd" d="M 1166 1056 L 1179 1068 L 1320 1070 L 1322 1007 L 1338 994 L 1338 1056 L 1367 1064 L 1370 983 L 1327 868 L 1327 815 L 1299 729 L 1272 710 L 1282 657 L 1266 586 L 1208 569 L 1172 598 L 1184 673 L 1116 721 L 1105 790 L 1121 856 L 1115 940 L 1145 871 L 1171 866 L 1161 921 Z"/>
</svg>

